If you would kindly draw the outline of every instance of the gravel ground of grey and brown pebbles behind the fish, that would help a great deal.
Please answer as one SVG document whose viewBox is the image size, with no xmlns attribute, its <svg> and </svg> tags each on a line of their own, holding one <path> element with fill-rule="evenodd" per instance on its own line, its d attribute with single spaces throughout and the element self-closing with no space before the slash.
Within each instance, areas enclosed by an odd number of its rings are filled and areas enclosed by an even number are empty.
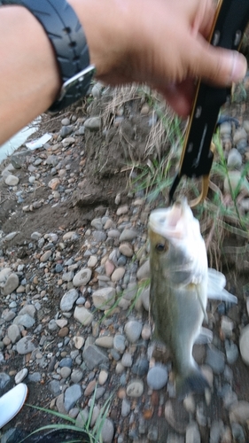
<svg viewBox="0 0 249 443">
<path fill-rule="evenodd" d="M 104 92 L 100 85 L 95 89 L 98 103 Z M 150 107 L 139 106 L 129 119 L 119 108 L 112 128 L 119 132 L 129 125 L 128 137 L 134 120 L 141 121 L 144 138 L 133 138 L 140 146 L 153 121 Z M 246 103 L 239 106 L 246 111 Z M 97 106 L 92 109 L 96 112 Z M 221 127 L 235 188 L 249 157 L 245 111 L 237 125 L 229 121 Z M 235 117 L 234 111 L 227 112 Z M 143 191 L 127 189 L 121 170 L 113 173 L 113 180 L 110 175 L 106 179 L 106 171 L 102 181 L 93 172 L 86 174 L 89 144 L 94 149 L 103 136 L 98 113 L 68 113 L 57 123 L 43 148 L 22 147 L 1 169 L 0 394 L 24 382 L 29 404 L 56 410 L 81 425 L 96 390 L 91 426 L 112 396 L 102 432 L 105 443 L 248 441 L 246 255 L 233 260 L 227 273 L 237 306 L 209 303 L 213 343 L 194 347 L 210 389 L 203 397 L 178 401 L 171 361 L 163 346 L 153 344 L 148 314 L 147 220 L 152 204 Z M 111 162 L 110 152 L 107 160 Z M 117 158 L 112 161 L 113 170 L 123 167 Z M 245 175 L 237 199 L 245 215 L 248 188 Z M 223 196 L 229 192 L 224 182 Z M 25 406 L 0 431 L 1 441 L 17 442 L 16 429 L 34 431 L 55 421 Z"/>
</svg>

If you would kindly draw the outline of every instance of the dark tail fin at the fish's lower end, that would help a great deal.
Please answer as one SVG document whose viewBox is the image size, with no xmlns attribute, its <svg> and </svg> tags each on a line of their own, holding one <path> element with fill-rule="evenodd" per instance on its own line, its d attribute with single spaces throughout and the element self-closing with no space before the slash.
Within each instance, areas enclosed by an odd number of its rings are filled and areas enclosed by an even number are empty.
<svg viewBox="0 0 249 443">
<path fill-rule="evenodd" d="M 210 385 L 206 377 L 204 377 L 198 368 L 193 369 L 187 377 L 178 375 L 175 378 L 176 393 L 180 400 L 183 400 L 183 398 L 191 392 L 204 393 L 208 387 L 210 387 Z"/>
</svg>

